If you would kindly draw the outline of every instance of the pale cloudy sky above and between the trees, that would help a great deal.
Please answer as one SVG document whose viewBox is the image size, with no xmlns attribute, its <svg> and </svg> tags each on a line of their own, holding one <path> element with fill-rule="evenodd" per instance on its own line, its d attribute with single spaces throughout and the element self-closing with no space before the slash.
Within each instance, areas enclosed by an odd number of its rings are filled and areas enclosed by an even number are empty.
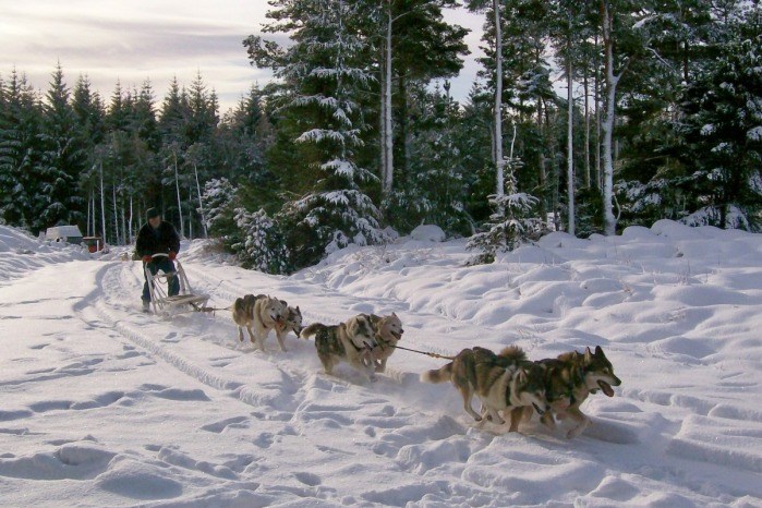
<svg viewBox="0 0 762 508">
<path fill-rule="evenodd" d="M 252 66 L 242 40 L 257 34 L 269 5 L 265 0 L 0 0 L 0 75 L 15 68 L 45 90 L 60 62 L 73 87 L 86 74 L 106 98 L 119 80 L 140 88 L 150 78 L 160 101 L 173 76 L 190 85 L 198 72 L 215 88 L 222 112 L 254 83 L 271 78 Z M 482 15 L 446 13 L 471 28 L 453 97 L 467 96 L 477 71 Z"/>
</svg>

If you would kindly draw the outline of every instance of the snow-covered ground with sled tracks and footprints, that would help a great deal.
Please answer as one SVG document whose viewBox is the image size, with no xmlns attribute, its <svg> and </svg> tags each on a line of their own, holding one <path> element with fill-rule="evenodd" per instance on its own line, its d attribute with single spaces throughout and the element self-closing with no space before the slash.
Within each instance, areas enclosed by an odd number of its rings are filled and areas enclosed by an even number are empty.
<svg viewBox="0 0 762 508">
<path fill-rule="evenodd" d="M 762 506 L 762 235 L 662 221 L 554 233 L 487 266 L 463 241 L 350 249 L 291 277 L 184 245 L 191 281 L 305 324 L 396 312 L 401 344 L 530 358 L 600 344 L 622 379 L 580 437 L 470 421 L 444 361 L 375 383 L 312 342 L 239 346 L 228 312 L 140 312 L 138 263 L 0 227 L 2 506 Z"/>
</svg>

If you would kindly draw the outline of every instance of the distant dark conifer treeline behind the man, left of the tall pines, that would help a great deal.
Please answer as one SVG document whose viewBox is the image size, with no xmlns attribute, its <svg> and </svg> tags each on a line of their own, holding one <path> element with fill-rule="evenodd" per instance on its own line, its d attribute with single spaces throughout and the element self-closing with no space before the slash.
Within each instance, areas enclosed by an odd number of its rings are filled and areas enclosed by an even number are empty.
<svg viewBox="0 0 762 508">
<path fill-rule="evenodd" d="M 205 182 L 263 171 L 255 87 L 223 118 L 201 73 L 188 88 L 173 80 L 158 105 L 150 81 L 104 98 L 86 76 L 70 89 L 60 65 L 45 94 L 16 70 L 0 90 L 0 220 L 33 233 L 75 223 L 125 244 L 158 206 L 184 237 L 203 237 Z"/>
</svg>

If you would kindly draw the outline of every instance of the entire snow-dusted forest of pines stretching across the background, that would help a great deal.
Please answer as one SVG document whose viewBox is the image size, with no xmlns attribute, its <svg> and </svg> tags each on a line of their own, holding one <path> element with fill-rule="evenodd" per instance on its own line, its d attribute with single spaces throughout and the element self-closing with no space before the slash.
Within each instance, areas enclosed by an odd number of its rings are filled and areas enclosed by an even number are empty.
<svg viewBox="0 0 762 508">
<path fill-rule="evenodd" d="M 147 206 L 288 273 L 350 243 L 436 223 L 482 261 L 544 231 L 613 234 L 661 218 L 762 223 L 757 2 L 472 0 L 483 70 L 448 78 L 455 0 L 275 0 L 252 64 L 277 81 L 220 117 L 201 75 L 104 99 L 59 68 L 41 97 L 0 89 L 0 218 L 128 242 Z"/>
</svg>

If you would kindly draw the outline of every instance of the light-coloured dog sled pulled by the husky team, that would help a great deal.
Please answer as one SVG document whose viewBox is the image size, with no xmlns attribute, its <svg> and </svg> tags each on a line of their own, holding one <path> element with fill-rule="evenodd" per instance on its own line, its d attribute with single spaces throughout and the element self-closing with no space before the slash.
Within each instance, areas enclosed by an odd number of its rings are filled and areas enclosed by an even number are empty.
<svg viewBox="0 0 762 508">
<path fill-rule="evenodd" d="M 169 257 L 168 254 L 154 254 L 153 258 Z M 150 292 L 150 304 L 154 314 L 172 316 L 188 312 L 205 312 L 206 303 L 209 301 L 208 294 L 194 293 L 191 283 L 188 281 L 185 269 L 180 259 L 174 259 L 174 271 L 157 271 L 152 274 L 148 265 L 144 265 L 146 280 L 148 280 L 148 291 Z M 169 281 L 172 277 L 178 278 L 180 292 L 169 295 Z"/>
</svg>

